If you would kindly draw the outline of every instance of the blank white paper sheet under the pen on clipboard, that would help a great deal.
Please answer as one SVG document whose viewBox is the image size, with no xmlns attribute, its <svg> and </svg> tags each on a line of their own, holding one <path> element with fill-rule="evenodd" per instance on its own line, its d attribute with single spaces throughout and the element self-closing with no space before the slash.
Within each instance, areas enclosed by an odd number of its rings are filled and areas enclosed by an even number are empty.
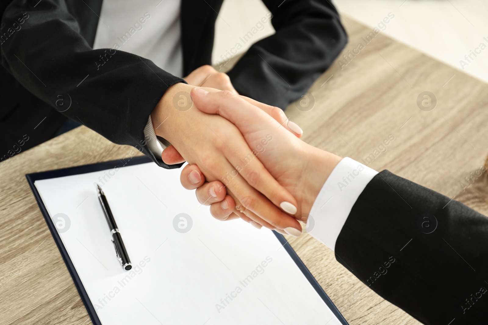
<svg viewBox="0 0 488 325">
<path fill-rule="evenodd" d="M 270 230 L 215 220 L 180 172 L 147 163 L 35 182 L 103 325 L 340 324 Z M 132 271 L 115 257 L 94 182 Z"/>
</svg>

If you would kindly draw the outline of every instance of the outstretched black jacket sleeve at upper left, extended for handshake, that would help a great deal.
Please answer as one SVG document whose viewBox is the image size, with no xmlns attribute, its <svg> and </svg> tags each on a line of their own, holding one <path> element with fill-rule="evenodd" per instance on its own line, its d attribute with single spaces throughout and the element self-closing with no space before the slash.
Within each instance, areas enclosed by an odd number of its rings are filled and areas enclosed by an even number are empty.
<svg viewBox="0 0 488 325">
<path fill-rule="evenodd" d="M 1 22 L 0 36 L 8 33 L 0 45 L 1 64 L 23 87 L 53 107 L 58 94 L 68 94 L 71 106 L 63 115 L 115 143 L 135 146 L 162 167 L 181 166 L 155 157 L 143 129 L 164 92 L 183 79 L 127 52 L 93 50 L 64 0 L 11 1 Z"/>
</svg>

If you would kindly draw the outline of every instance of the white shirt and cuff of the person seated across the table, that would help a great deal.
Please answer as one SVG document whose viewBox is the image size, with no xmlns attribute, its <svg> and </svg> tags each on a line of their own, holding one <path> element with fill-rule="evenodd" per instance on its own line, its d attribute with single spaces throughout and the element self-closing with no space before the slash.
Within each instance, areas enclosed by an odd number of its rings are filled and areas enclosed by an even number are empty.
<svg viewBox="0 0 488 325">
<path fill-rule="evenodd" d="M 110 48 L 145 57 L 174 76 L 183 75 L 181 0 L 103 0 L 94 49 Z M 110 64 L 110 59 L 106 62 Z M 146 144 L 161 157 L 165 147 L 154 133 L 151 116 Z"/>
</svg>

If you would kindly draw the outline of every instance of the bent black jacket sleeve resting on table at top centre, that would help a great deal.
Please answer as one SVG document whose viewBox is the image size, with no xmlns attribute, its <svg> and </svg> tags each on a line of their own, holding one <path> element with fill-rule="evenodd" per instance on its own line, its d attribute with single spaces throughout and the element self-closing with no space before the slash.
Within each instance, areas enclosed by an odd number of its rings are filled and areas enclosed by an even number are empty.
<svg viewBox="0 0 488 325">
<path fill-rule="evenodd" d="M 285 109 L 305 94 L 347 43 L 329 0 L 263 0 L 276 34 L 252 45 L 228 72 L 236 90 Z"/>
</svg>

